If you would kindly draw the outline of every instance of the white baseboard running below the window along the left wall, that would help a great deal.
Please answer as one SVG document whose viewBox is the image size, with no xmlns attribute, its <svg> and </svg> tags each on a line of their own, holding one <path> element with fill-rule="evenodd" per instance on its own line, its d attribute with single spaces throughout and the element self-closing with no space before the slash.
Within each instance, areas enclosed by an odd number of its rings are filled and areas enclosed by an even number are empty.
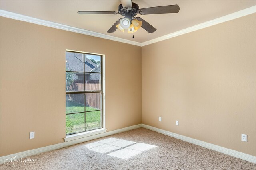
<svg viewBox="0 0 256 170">
<path fill-rule="evenodd" d="M 100 134 L 97 134 L 97 135 L 92 135 L 92 136 L 89 136 L 89 137 L 75 139 L 75 140 L 72 140 L 72 141 L 57 143 L 57 144 L 46 146 L 46 147 L 27 150 L 27 151 L 19 152 L 19 153 L 16 153 L 16 154 L 10 154 L 10 155 L 6 155 L 6 156 L 2 156 L 2 157 L 0 157 L 0 164 L 4 163 L 4 160 L 6 160 L 6 159 L 10 160 L 10 159 L 14 158 L 15 156 L 16 156 L 15 159 L 20 159 L 24 155 L 31 156 L 31 155 L 35 155 L 35 154 L 40 154 L 40 153 L 47 152 L 47 151 L 50 151 L 50 150 L 55 150 L 55 149 L 60 149 L 60 148 L 63 148 L 63 147 L 68 147 L 68 146 L 75 145 L 75 144 L 78 144 L 78 143 L 90 141 L 92 139 L 97 139 L 97 138 L 100 138 L 100 137 L 106 137 L 106 136 L 109 136 L 109 135 L 114 135 L 116 133 L 130 131 L 132 129 L 137 129 L 137 128 L 140 128 L 140 127 L 142 127 L 142 124 L 133 125 L 133 126 L 129 126 L 129 127 L 124 127 L 122 129 L 117 129 L 117 130 L 114 130 L 114 131 L 100 133 Z"/>
</svg>

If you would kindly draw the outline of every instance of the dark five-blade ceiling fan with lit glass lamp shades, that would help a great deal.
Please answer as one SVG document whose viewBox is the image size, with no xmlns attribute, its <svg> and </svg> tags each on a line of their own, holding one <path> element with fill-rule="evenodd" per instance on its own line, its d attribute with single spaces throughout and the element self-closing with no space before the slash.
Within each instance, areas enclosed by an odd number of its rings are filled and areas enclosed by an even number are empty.
<svg viewBox="0 0 256 170">
<path fill-rule="evenodd" d="M 78 14 L 120 14 L 124 18 L 119 20 L 110 27 L 108 33 L 113 33 L 116 29 L 120 29 L 124 32 L 128 29 L 128 33 L 136 32 L 140 27 L 153 33 L 156 31 L 152 25 L 143 20 L 140 17 L 135 17 L 137 14 L 148 15 L 148 14 L 167 14 L 167 13 L 178 13 L 180 7 L 178 5 L 167 5 L 167 6 L 155 6 L 150 8 L 142 8 L 132 2 L 132 0 L 120 0 L 121 4 L 118 6 L 118 12 L 116 11 L 78 11 Z"/>
</svg>

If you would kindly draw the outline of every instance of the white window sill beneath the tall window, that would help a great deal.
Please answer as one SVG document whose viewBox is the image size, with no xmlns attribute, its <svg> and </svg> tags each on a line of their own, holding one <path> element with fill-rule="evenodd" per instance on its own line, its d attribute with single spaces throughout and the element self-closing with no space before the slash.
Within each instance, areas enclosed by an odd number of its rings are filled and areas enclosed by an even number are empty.
<svg viewBox="0 0 256 170">
<path fill-rule="evenodd" d="M 91 130 L 91 131 L 87 131 L 87 132 L 81 132 L 81 133 L 76 133 L 76 134 L 72 134 L 72 135 L 67 135 L 66 138 L 64 138 L 64 141 L 67 142 L 67 141 L 72 141 L 72 140 L 83 138 L 83 137 L 96 135 L 99 133 L 104 133 L 104 132 L 106 132 L 106 130 L 107 129 L 101 128 L 101 129 L 95 129 L 95 130 Z"/>
</svg>

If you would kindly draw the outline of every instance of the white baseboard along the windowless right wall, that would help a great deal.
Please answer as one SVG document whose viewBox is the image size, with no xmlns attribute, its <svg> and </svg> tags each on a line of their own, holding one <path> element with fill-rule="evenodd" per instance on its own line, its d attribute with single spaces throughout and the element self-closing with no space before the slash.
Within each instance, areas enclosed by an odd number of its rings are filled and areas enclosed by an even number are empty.
<svg viewBox="0 0 256 170">
<path fill-rule="evenodd" d="M 200 140 L 197 140 L 197 139 L 193 139 L 193 138 L 190 138 L 190 137 L 182 136 L 182 135 L 172 133 L 172 132 L 169 132 L 169 131 L 165 131 L 165 130 L 162 130 L 162 129 L 158 129 L 156 127 L 152 127 L 152 126 L 149 126 L 149 125 L 142 124 L 142 127 L 146 128 L 146 129 L 149 129 L 149 130 L 152 130 L 152 131 L 156 131 L 158 133 L 162 133 L 164 135 L 168 135 L 170 137 L 175 137 L 177 139 L 181 139 L 182 141 L 186 141 L 186 142 L 189 142 L 189 143 L 193 143 L 195 145 L 199 145 L 201 147 L 216 150 L 218 152 L 222 152 L 224 154 L 228 154 L 228 155 L 234 156 L 236 158 L 247 160 L 247 161 L 252 162 L 254 164 L 256 163 L 256 156 L 252 156 L 252 155 L 249 155 L 249 154 L 238 152 L 236 150 L 220 147 L 218 145 L 214 145 L 214 144 L 207 143 L 207 142 L 204 142 L 204 141 L 200 141 Z"/>
</svg>

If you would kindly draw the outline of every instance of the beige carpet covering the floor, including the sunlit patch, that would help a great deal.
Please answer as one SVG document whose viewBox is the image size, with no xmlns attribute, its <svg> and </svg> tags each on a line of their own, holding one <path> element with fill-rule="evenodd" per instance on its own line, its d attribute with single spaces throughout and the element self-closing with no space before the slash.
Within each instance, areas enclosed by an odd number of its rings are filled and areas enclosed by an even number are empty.
<svg viewBox="0 0 256 170">
<path fill-rule="evenodd" d="M 1 170 L 256 170 L 256 164 L 139 128 L 35 156 Z"/>
</svg>

